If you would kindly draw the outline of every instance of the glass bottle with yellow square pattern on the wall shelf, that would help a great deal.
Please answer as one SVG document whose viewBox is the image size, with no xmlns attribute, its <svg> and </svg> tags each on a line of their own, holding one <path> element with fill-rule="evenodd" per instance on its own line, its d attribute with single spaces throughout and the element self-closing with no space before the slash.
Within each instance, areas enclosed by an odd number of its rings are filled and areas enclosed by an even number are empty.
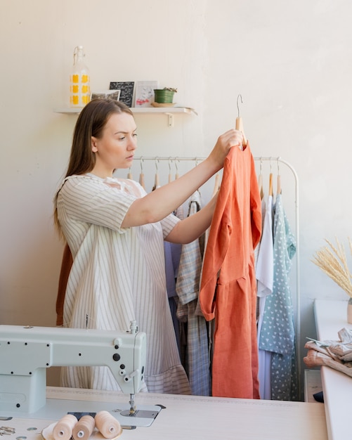
<svg viewBox="0 0 352 440">
<path fill-rule="evenodd" d="M 76 46 L 70 75 L 70 107 L 82 108 L 91 101 L 89 70 L 84 63 L 84 48 Z"/>
</svg>

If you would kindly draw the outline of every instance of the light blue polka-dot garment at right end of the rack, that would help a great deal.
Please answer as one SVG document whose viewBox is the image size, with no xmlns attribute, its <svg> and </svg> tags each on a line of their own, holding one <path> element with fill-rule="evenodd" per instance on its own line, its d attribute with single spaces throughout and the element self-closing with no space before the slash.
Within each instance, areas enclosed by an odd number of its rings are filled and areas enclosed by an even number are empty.
<svg viewBox="0 0 352 440">
<path fill-rule="evenodd" d="M 274 210 L 273 293 L 266 297 L 259 349 L 273 353 L 271 399 L 296 400 L 294 311 L 289 287 L 289 273 L 296 253 L 296 242 L 289 228 L 280 194 L 276 196 Z"/>
</svg>

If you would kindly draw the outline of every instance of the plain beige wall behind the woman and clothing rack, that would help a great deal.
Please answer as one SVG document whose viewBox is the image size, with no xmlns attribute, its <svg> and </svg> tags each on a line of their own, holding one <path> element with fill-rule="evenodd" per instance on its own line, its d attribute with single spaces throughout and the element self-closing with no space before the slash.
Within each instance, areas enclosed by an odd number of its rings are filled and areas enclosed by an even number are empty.
<svg viewBox="0 0 352 440">
<path fill-rule="evenodd" d="M 351 13 L 336 0 L 0 0 L 0 323 L 55 325 L 52 198 L 76 116 L 53 109 L 67 105 L 82 44 L 93 90 L 158 79 L 197 110 L 174 128 L 136 115 L 140 155 L 207 155 L 242 94 L 254 155 L 280 156 L 299 176 L 302 343 L 314 336 L 313 298 L 346 299 L 311 257 L 350 234 Z M 282 176 L 294 227 L 292 186 Z"/>
</svg>

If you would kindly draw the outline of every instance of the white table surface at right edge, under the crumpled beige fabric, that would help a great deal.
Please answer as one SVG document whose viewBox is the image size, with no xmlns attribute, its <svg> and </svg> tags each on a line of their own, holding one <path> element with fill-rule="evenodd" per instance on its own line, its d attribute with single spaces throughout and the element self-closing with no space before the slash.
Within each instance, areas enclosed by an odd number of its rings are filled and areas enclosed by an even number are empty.
<svg viewBox="0 0 352 440">
<path fill-rule="evenodd" d="M 319 340 L 337 341 L 342 328 L 352 330 L 347 323 L 347 301 L 315 300 L 315 325 Z M 322 366 L 322 391 L 329 440 L 351 438 L 352 377 L 333 368 Z M 317 437 L 318 438 L 318 437 Z"/>
</svg>

